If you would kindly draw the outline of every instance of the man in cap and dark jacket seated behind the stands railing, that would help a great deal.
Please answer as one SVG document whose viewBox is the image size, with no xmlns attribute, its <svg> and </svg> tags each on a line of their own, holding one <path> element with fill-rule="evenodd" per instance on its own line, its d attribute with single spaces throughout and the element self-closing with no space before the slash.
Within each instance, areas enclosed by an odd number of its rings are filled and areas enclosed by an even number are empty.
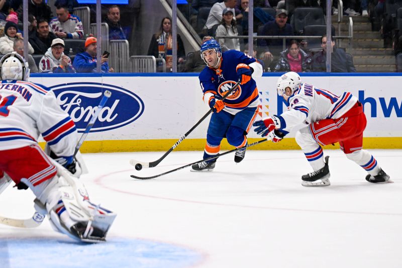
<svg viewBox="0 0 402 268">
<path fill-rule="evenodd" d="M 293 28 L 287 24 L 287 11 L 279 9 L 276 11 L 274 21 L 264 24 L 261 35 L 266 36 L 293 36 Z M 258 39 L 257 41 L 260 58 L 264 60 L 265 66 L 269 66 L 274 56 L 277 57 L 283 50 L 282 39 Z M 290 40 L 286 40 L 286 45 L 290 45 Z"/>
</svg>

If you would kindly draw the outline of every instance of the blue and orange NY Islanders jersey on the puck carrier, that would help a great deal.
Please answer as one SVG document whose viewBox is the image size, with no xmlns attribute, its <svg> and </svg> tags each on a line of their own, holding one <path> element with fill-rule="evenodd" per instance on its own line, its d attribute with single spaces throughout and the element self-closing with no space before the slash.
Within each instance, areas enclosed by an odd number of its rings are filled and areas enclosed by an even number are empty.
<svg viewBox="0 0 402 268">
<path fill-rule="evenodd" d="M 221 65 L 218 68 L 206 66 L 200 72 L 198 78 L 204 93 L 204 101 L 208 104 L 211 96 L 224 96 L 238 81 L 236 66 L 239 63 L 256 62 L 257 60 L 243 52 L 228 50 L 222 53 Z M 224 111 L 230 114 L 237 114 L 247 107 L 259 105 L 258 90 L 255 80 L 250 79 L 245 84 L 239 85 L 225 100 Z"/>
</svg>

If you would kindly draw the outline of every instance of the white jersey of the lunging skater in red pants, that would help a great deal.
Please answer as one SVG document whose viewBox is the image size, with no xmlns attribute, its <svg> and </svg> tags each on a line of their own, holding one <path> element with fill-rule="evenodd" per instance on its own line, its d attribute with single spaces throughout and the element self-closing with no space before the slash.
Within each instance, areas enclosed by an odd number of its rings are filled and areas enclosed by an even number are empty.
<svg viewBox="0 0 402 268">
<path fill-rule="evenodd" d="M 290 132 L 294 126 L 302 123 L 340 118 L 357 101 L 358 99 L 349 92 L 336 96 L 314 85 L 303 83 L 288 99 L 288 111 L 281 114 L 281 129 Z"/>
</svg>

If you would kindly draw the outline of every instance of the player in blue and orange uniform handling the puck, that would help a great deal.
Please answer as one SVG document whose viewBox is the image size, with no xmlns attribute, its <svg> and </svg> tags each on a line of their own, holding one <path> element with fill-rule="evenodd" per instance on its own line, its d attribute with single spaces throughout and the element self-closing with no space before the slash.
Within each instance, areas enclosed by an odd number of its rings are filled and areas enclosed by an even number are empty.
<svg viewBox="0 0 402 268">
<path fill-rule="evenodd" d="M 239 148 L 247 145 L 246 135 L 258 113 L 258 91 L 253 77 L 262 75 L 261 64 L 240 51 L 222 53 L 219 43 L 211 39 L 200 49 L 207 64 L 199 74 L 204 102 L 214 108 L 207 131 L 204 159 L 217 155 L 224 137 L 229 144 Z M 222 96 L 237 81 L 240 85 L 224 101 Z M 236 151 L 235 162 L 243 160 L 245 149 Z M 216 159 L 191 166 L 192 171 L 212 170 Z"/>
</svg>

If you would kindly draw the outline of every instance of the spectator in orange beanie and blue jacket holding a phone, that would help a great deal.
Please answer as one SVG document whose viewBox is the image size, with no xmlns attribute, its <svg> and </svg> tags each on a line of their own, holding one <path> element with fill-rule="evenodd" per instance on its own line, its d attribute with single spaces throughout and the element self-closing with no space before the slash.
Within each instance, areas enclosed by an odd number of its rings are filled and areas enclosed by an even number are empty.
<svg viewBox="0 0 402 268">
<path fill-rule="evenodd" d="M 103 55 L 100 58 L 102 62 L 101 72 L 114 72 L 113 68 L 109 68 L 108 56 Z M 96 38 L 91 36 L 85 40 L 85 52 L 78 53 L 72 66 L 76 72 L 96 72 Z"/>
</svg>

